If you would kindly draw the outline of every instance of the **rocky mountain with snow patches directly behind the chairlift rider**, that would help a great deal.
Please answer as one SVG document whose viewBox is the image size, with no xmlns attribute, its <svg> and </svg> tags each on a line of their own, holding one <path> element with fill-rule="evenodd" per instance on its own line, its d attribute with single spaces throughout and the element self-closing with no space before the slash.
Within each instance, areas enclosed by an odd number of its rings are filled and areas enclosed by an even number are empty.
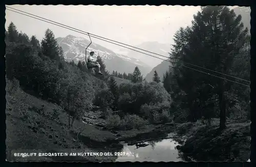
<svg viewBox="0 0 256 167">
<path fill-rule="evenodd" d="M 59 46 L 62 47 L 64 57 L 67 61 L 85 61 L 85 49 L 90 43 L 89 40 L 83 37 L 75 37 L 72 35 L 68 35 L 65 38 L 57 38 L 57 42 Z M 94 42 L 88 47 L 87 54 L 89 54 L 90 51 L 94 51 L 96 57 L 99 55 L 102 58 L 106 66 L 106 69 L 110 72 L 115 70 L 120 73 L 131 73 L 133 72 L 136 66 L 139 67 L 141 73 L 144 75 L 151 71 L 150 66 L 144 64 L 140 60 L 136 58 L 127 57 L 126 55 L 115 53 L 114 51 L 105 48 L 101 45 L 98 45 Z"/>
</svg>

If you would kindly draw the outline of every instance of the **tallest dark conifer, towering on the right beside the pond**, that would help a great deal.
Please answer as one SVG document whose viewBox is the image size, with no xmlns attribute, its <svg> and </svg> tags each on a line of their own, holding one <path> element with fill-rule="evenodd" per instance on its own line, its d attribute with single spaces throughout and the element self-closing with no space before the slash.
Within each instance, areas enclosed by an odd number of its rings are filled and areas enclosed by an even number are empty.
<svg viewBox="0 0 256 167">
<path fill-rule="evenodd" d="M 234 58 L 243 48 L 247 32 L 243 29 L 241 15 L 236 16 L 228 7 L 203 7 L 194 16 L 192 26 L 176 34 L 171 55 L 178 61 L 231 75 Z M 235 104 L 230 98 L 231 94 L 237 94 L 232 89 L 234 83 L 180 65 L 175 63 L 174 72 L 179 89 L 186 94 L 185 105 L 190 110 L 191 120 L 195 121 L 203 115 L 212 117 L 208 114 L 213 112 L 207 114 L 206 111 L 213 104 L 218 104 L 220 129 L 224 129 L 227 107 Z M 222 74 L 216 75 L 231 79 Z"/>
</svg>

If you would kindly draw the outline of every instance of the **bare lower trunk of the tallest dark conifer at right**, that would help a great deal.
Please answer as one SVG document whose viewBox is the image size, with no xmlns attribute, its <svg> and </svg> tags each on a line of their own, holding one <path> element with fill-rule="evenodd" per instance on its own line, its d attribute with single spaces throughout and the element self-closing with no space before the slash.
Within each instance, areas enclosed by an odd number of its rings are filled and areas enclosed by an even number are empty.
<svg viewBox="0 0 256 167">
<path fill-rule="evenodd" d="M 219 93 L 220 130 L 226 128 L 226 100 L 223 91 Z"/>
</svg>

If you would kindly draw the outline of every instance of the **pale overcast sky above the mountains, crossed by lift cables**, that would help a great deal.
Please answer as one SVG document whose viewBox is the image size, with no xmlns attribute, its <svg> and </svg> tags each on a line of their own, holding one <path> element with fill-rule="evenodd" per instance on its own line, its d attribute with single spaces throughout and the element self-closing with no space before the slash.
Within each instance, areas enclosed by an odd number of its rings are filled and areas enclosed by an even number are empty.
<svg viewBox="0 0 256 167">
<path fill-rule="evenodd" d="M 173 42 L 173 35 L 179 27 L 190 25 L 193 15 L 200 10 L 199 6 L 166 5 L 11 5 L 9 7 L 130 45 L 137 45 L 146 41 L 170 44 Z M 30 37 L 36 35 L 39 40 L 44 37 L 47 28 L 53 31 L 55 38 L 66 37 L 69 34 L 87 38 L 86 35 L 6 10 L 6 27 L 11 21 L 17 26 L 18 31 L 22 31 Z M 113 50 L 120 48 L 97 39 L 92 40 Z"/>
</svg>

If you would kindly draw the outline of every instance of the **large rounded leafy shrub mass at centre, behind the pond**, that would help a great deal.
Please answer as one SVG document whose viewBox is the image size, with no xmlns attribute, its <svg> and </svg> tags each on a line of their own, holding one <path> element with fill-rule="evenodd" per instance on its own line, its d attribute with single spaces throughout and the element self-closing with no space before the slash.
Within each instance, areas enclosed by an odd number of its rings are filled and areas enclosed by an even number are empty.
<svg viewBox="0 0 256 167">
<path fill-rule="evenodd" d="M 168 109 L 170 104 L 170 96 L 165 89 L 159 85 L 151 85 L 147 83 L 137 84 L 122 84 L 119 87 L 121 95 L 118 99 L 118 109 L 127 114 L 144 115 L 145 118 L 150 117 L 151 112 L 148 109 L 143 109 L 141 112 L 141 106 L 144 104 L 148 105 L 159 105 L 162 103 L 164 106 L 158 106 L 157 108 Z"/>
</svg>

